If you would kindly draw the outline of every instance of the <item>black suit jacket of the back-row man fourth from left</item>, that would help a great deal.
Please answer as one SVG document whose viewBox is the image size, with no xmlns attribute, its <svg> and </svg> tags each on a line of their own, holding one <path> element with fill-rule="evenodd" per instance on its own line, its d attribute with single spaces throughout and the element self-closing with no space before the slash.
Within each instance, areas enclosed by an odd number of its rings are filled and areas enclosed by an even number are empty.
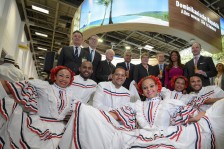
<svg viewBox="0 0 224 149">
<path fill-rule="evenodd" d="M 128 70 L 127 67 L 126 67 L 125 62 L 117 63 L 116 67 L 117 67 L 117 66 L 124 67 L 126 71 Z M 126 89 L 129 89 L 130 83 L 131 83 L 131 81 L 133 80 L 134 66 L 135 66 L 134 64 L 130 63 L 129 77 L 126 78 L 124 84 L 122 85 L 122 86 L 124 86 Z"/>
</svg>

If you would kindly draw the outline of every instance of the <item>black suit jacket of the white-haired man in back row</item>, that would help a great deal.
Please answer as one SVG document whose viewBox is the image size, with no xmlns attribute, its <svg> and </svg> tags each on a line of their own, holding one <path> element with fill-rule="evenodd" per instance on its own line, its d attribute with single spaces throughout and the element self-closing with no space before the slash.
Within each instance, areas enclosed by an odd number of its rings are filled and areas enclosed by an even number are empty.
<svg viewBox="0 0 224 149">
<path fill-rule="evenodd" d="M 109 66 L 107 60 L 101 61 L 96 72 L 96 77 L 98 82 L 109 81 L 108 76 L 112 74 L 115 66 L 111 63 Z"/>
</svg>

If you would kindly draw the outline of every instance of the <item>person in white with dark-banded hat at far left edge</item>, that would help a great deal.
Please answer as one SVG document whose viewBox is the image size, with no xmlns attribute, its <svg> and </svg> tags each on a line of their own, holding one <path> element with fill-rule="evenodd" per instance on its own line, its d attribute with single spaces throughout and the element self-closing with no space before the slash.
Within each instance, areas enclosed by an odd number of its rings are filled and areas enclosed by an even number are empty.
<svg viewBox="0 0 224 149">
<path fill-rule="evenodd" d="M 15 67 L 15 59 L 11 55 L 6 55 L 4 63 L 0 65 L 0 80 L 16 82 L 24 80 L 24 74 Z"/>
</svg>

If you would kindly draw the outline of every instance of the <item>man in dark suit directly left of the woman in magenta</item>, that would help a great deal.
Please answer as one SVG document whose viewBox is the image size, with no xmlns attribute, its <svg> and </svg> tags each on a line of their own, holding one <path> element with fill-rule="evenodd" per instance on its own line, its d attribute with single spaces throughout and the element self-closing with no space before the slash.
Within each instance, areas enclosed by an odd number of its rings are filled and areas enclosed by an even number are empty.
<svg viewBox="0 0 224 149">
<path fill-rule="evenodd" d="M 164 82 L 165 82 L 165 68 L 166 68 L 166 64 L 165 62 L 165 56 L 164 53 L 158 53 L 156 55 L 156 59 L 158 60 L 158 64 L 155 65 L 155 69 L 157 69 L 157 72 L 159 72 L 159 74 L 157 75 L 158 78 L 160 79 L 162 86 L 164 87 Z"/>
</svg>

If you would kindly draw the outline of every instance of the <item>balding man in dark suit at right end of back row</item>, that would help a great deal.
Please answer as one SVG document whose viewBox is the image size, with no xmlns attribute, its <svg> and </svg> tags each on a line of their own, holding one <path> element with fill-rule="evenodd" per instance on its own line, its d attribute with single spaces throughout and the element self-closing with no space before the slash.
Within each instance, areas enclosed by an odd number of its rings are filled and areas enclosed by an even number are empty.
<svg viewBox="0 0 224 149">
<path fill-rule="evenodd" d="M 217 74 L 217 70 L 211 57 L 200 55 L 201 45 L 199 43 L 192 44 L 193 58 L 185 64 L 184 75 L 189 79 L 194 74 L 199 74 L 203 86 L 210 85 L 210 77 Z"/>
</svg>

